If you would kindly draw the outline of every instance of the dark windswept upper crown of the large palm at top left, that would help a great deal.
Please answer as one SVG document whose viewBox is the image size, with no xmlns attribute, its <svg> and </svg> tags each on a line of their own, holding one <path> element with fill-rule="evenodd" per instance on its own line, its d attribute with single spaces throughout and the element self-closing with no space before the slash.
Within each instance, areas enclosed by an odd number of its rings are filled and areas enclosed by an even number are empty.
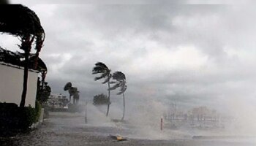
<svg viewBox="0 0 256 146">
<path fill-rule="evenodd" d="M 31 34 L 44 39 L 45 32 L 34 11 L 21 4 L 0 6 L 0 31 L 23 37 Z M 42 39 L 38 38 L 38 39 Z"/>
</svg>

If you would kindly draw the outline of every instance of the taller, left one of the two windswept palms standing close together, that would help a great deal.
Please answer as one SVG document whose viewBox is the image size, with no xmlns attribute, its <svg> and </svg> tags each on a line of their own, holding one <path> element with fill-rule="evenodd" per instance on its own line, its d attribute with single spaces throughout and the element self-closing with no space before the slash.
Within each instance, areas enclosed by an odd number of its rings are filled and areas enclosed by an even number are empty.
<svg viewBox="0 0 256 146">
<path fill-rule="evenodd" d="M 95 64 L 94 68 L 92 69 L 92 74 L 101 74 L 99 77 L 95 77 L 94 80 L 105 78 L 105 81 L 102 82 L 102 84 L 105 84 L 106 82 L 108 82 L 108 89 L 110 88 L 110 82 L 109 82 L 111 77 L 110 72 L 111 70 L 108 69 L 108 66 L 106 66 L 102 62 L 97 62 L 97 64 Z M 108 110 L 107 110 L 106 116 L 108 116 L 109 107 L 110 107 L 110 90 L 108 90 Z"/>
</svg>

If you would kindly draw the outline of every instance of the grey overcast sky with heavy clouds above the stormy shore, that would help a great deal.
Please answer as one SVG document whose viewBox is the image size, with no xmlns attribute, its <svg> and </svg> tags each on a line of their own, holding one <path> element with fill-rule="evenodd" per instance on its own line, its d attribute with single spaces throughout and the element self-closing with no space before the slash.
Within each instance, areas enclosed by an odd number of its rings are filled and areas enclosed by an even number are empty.
<svg viewBox="0 0 256 146">
<path fill-rule="evenodd" d="M 18 1 L 11 1 L 18 3 Z M 125 1 L 123 1 L 125 3 Z M 94 81 L 97 61 L 127 76 L 127 101 L 157 100 L 193 107 L 256 103 L 256 9 L 249 4 L 34 4 L 45 29 L 40 57 L 48 66 L 52 93 L 66 82 L 81 99 L 107 94 Z M 141 2 L 141 3 L 140 3 Z M 170 2 L 170 1 L 169 1 Z M 176 3 L 176 1 L 171 1 Z M 18 39 L 0 45 L 19 50 Z M 13 49 L 16 47 L 16 49 Z M 121 102 L 115 96 L 112 102 Z M 129 105 L 128 105 L 129 106 Z"/>
</svg>

